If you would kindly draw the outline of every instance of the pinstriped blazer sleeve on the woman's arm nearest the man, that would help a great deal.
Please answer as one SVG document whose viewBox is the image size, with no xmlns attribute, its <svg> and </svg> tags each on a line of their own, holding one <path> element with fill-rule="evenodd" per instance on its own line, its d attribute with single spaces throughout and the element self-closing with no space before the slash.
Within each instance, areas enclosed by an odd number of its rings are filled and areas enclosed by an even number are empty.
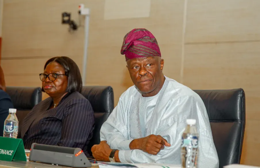
<svg viewBox="0 0 260 168">
<path fill-rule="evenodd" d="M 76 98 L 65 108 L 58 146 L 84 149 L 94 125 L 94 112 L 87 99 Z"/>
</svg>

